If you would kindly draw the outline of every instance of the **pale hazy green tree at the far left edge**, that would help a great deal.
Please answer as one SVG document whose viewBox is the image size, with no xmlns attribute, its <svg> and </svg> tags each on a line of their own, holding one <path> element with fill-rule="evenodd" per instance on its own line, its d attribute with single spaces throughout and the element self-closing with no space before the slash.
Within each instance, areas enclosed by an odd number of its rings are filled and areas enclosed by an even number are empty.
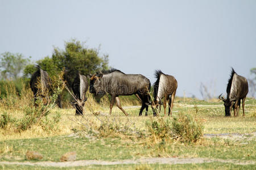
<svg viewBox="0 0 256 170">
<path fill-rule="evenodd" d="M 30 62 L 30 58 L 24 58 L 19 53 L 2 53 L 0 58 L 1 78 L 17 79 L 22 74 L 24 67 Z"/>
</svg>

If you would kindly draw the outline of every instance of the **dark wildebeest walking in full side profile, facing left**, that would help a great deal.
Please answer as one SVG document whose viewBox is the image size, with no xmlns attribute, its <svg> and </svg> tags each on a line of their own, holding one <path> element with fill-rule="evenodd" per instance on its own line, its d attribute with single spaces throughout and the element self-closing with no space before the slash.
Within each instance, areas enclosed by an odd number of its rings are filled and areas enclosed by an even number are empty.
<svg viewBox="0 0 256 170">
<path fill-rule="evenodd" d="M 141 74 L 125 74 L 117 69 L 102 71 L 102 73 L 94 74 L 90 78 L 90 93 L 98 95 L 108 92 L 111 96 L 109 114 L 111 114 L 114 101 L 116 101 L 118 108 L 127 116 L 128 114 L 121 107 L 118 96 L 135 94 L 142 102 L 139 116 L 142 115 L 144 108 L 146 108 L 147 116 L 148 104 L 150 103 L 148 94 L 150 86 L 150 80 L 145 76 Z"/>
</svg>

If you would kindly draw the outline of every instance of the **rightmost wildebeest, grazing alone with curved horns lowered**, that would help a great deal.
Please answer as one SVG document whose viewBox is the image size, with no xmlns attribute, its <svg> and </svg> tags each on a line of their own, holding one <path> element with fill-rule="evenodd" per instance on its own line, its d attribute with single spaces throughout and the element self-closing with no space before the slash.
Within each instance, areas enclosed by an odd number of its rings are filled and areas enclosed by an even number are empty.
<svg viewBox="0 0 256 170">
<path fill-rule="evenodd" d="M 221 95 L 218 99 L 224 101 L 225 116 L 230 116 L 232 107 L 234 109 L 234 116 L 238 116 L 238 111 L 242 99 L 243 116 L 245 116 L 245 99 L 248 93 L 248 83 L 246 78 L 238 75 L 232 68 L 229 78 L 228 86 L 226 87 L 227 97 L 224 99 Z"/>
</svg>

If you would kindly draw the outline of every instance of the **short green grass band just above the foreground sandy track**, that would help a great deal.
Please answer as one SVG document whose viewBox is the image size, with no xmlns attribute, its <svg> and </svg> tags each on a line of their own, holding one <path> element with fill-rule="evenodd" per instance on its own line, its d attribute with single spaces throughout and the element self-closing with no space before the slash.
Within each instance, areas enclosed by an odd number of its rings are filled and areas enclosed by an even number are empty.
<svg viewBox="0 0 256 170">
<path fill-rule="evenodd" d="M 19 139 L 0 142 L 0 148 L 12 148 L 2 153 L 0 160 L 24 161 L 27 150 L 38 151 L 44 155 L 42 161 L 58 162 L 61 155 L 76 151 L 77 160 L 123 160 L 142 157 L 179 157 L 179 158 L 220 158 L 255 160 L 256 141 L 232 141 L 212 138 L 201 145 L 184 145 L 180 142 L 162 142 L 147 145 L 133 139 L 121 138 L 86 139 L 82 137 L 50 137 Z"/>
</svg>

